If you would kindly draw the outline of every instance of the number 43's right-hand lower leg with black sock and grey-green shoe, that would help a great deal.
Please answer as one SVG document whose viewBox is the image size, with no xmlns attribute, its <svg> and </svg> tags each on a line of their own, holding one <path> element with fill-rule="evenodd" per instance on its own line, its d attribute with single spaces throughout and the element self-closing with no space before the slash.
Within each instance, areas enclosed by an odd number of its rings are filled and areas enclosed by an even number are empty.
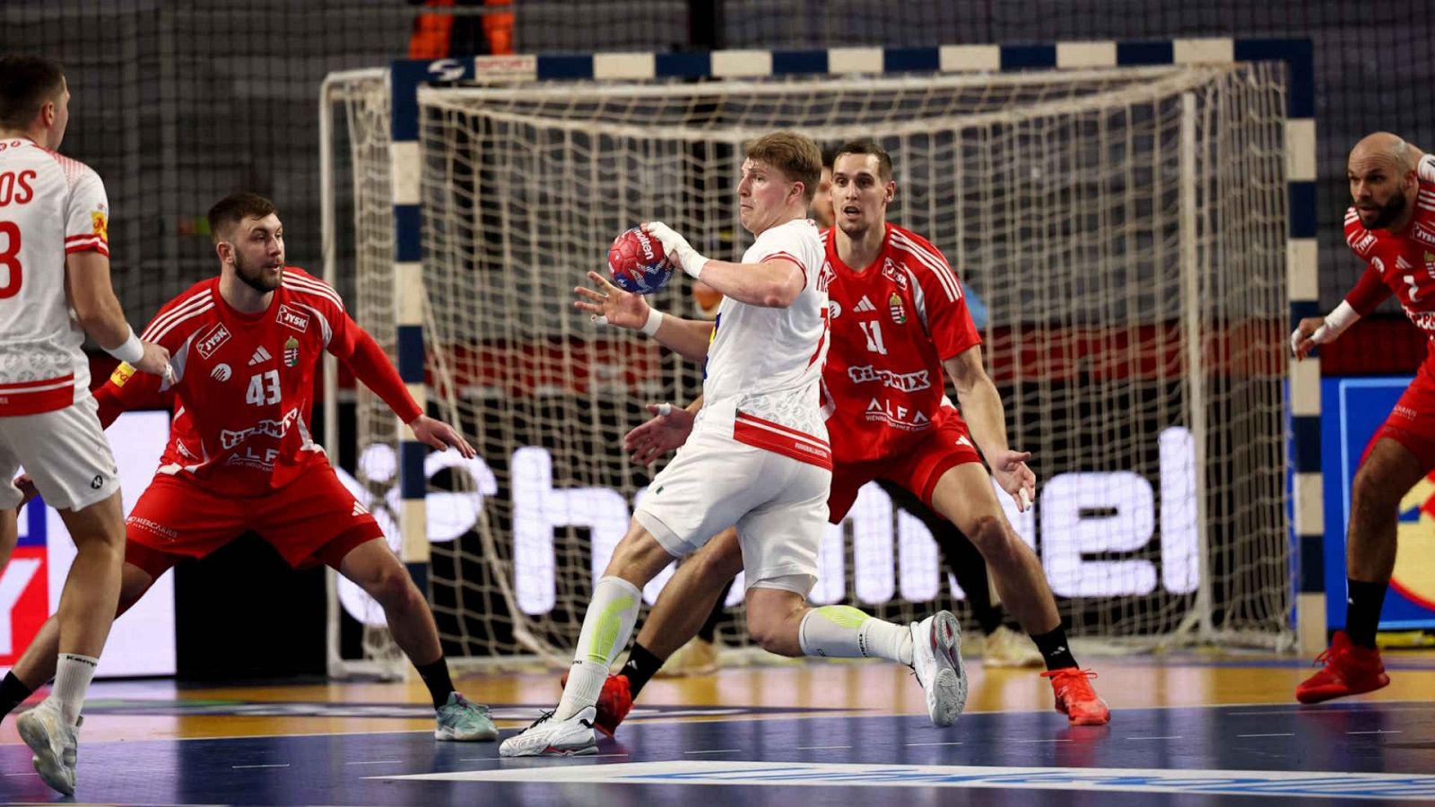
<svg viewBox="0 0 1435 807">
<path fill-rule="evenodd" d="M 339 561 L 339 573 L 383 607 L 389 633 L 429 689 L 438 714 L 433 735 L 438 740 L 497 740 L 498 729 L 488 706 L 468 701 L 453 688 L 433 612 L 389 546 L 382 538 L 356 546 Z"/>
</svg>

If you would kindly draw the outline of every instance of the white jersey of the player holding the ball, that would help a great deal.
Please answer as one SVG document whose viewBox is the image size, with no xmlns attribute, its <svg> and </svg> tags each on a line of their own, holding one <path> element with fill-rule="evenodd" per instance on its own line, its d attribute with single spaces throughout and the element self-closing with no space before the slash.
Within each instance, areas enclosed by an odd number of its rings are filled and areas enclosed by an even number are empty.
<svg viewBox="0 0 1435 807">
<path fill-rule="evenodd" d="M 703 368 L 703 411 L 695 428 L 831 468 L 819 383 L 827 356 L 831 274 L 817 225 L 794 220 L 758 235 L 742 263 L 786 260 L 804 287 L 785 309 L 722 302 Z"/>
</svg>

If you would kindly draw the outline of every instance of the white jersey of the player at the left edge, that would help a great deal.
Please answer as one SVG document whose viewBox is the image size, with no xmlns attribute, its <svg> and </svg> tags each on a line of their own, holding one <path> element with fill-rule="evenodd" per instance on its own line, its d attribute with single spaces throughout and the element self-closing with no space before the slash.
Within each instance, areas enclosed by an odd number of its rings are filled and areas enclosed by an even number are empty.
<svg viewBox="0 0 1435 807">
<path fill-rule="evenodd" d="M 85 332 L 70 317 L 66 257 L 109 256 L 95 171 L 27 138 L 0 138 L 0 416 L 89 398 Z"/>
</svg>

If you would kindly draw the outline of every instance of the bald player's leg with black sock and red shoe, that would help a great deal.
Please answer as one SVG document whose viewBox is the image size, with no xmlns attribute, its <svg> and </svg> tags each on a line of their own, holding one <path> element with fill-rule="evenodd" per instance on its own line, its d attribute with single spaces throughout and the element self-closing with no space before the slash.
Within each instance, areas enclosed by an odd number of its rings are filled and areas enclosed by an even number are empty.
<svg viewBox="0 0 1435 807">
<path fill-rule="evenodd" d="M 1391 438 L 1378 439 L 1356 471 L 1346 538 L 1346 629 L 1336 632 L 1330 649 L 1317 659 L 1325 668 L 1296 686 L 1297 701 L 1319 704 L 1391 682 L 1375 633 L 1395 572 L 1401 500 L 1424 475 L 1421 460 Z"/>
</svg>

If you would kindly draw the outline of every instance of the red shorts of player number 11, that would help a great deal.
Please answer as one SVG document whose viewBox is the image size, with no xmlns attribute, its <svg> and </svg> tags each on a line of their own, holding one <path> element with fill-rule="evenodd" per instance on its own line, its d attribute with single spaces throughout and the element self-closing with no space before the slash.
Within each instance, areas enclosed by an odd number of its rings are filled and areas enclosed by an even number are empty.
<svg viewBox="0 0 1435 807">
<path fill-rule="evenodd" d="M 827 498 L 827 520 L 838 524 L 857 501 L 857 491 L 872 480 L 895 482 L 931 507 L 931 491 L 943 474 L 966 462 L 980 462 L 967 424 L 947 406 L 907 451 L 867 462 L 835 462 L 832 493 Z"/>
</svg>

